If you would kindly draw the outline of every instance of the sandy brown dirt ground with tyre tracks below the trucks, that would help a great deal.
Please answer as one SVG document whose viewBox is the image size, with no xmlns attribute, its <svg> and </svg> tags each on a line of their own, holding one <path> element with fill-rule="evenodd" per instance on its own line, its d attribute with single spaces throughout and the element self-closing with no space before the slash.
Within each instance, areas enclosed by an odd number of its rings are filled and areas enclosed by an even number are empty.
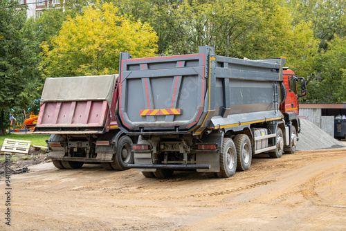
<svg viewBox="0 0 346 231">
<path fill-rule="evenodd" d="M 11 227 L 0 230 L 346 230 L 346 149 L 258 157 L 232 178 L 145 178 L 51 163 L 11 176 Z"/>
</svg>

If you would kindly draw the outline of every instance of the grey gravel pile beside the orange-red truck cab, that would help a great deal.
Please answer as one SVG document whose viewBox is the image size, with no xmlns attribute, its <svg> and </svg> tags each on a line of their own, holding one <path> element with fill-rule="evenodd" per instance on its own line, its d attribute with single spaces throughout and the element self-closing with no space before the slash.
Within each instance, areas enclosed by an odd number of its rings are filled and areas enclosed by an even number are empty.
<svg viewBox="0 0 346 231">
<path fill-rule="evenodd" d="M 322 131 L 309 120 L 300 119 L 300 128 L 297 151 L 346 147 L 342 142 L 329 136 L 328 133 Z"/>
</svg>

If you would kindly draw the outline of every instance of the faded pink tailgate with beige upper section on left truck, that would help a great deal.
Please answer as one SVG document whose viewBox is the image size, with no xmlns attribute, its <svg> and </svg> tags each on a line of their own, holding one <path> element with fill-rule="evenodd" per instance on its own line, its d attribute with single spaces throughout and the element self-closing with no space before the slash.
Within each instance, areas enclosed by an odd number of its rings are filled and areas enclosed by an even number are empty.
<svg viewBox="0 0 346 231">
<path fill-rule="evenodd" d="M 47 78 L 36 133 L 101 133 L 116 75 Z"/>
</svg>

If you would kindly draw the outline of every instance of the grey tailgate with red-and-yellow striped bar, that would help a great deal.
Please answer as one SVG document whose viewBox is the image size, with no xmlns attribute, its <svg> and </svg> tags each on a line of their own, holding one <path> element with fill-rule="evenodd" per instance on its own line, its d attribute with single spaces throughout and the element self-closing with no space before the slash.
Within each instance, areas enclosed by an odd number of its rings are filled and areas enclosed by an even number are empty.
<svg viewBox="0 0 346 231">
<path fill-rule="evenodd" d="M 122 53 L 117 113 L 122 127 L 127 132 L 194 127 L 203 116 L 207 52 L 143 59 Z"/>
</svg>

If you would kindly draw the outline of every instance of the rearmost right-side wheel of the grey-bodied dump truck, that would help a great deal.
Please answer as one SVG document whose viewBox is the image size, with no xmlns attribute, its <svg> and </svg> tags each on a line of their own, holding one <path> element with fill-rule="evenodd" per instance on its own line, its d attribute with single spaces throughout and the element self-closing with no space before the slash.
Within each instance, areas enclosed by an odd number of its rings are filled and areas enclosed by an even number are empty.
<svg viewBox="0 0 346 231">
<path fill-rule="evenodd" d="M 219 158 L 220 172 L 217 173 L 217 176 L 226 178 L 233 176 L 237 169 L 237 151 L 233 140 L 224 138 L 222 150 Z"/>
</svg>

